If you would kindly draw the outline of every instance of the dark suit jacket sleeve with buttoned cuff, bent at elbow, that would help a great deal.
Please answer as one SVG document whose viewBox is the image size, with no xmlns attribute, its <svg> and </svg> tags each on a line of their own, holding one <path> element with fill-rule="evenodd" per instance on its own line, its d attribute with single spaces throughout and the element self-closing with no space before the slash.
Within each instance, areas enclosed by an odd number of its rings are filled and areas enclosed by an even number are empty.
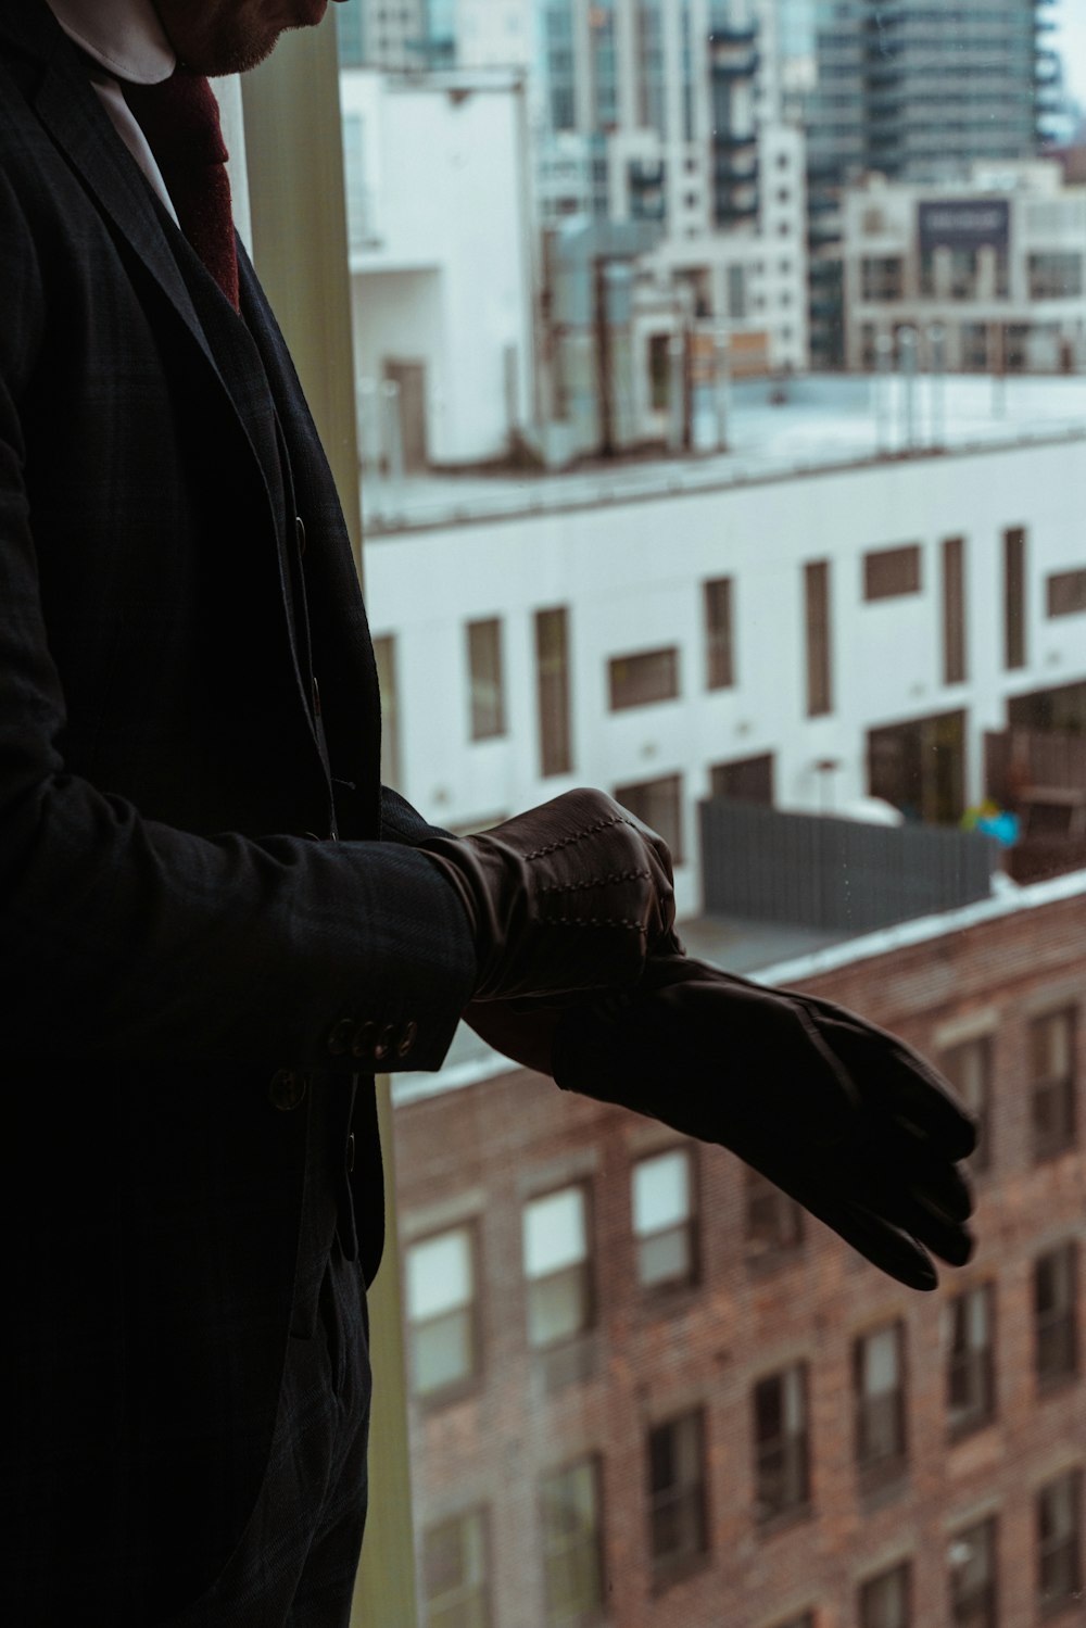
<svg viewBox="0 0 1086 1628">
<path fill-rule="evenodd" d="M 5 1053 L 358 1066 L 373 1035 L 392 1034 L 410 1044 L 381 1066 L 440 1066 L 475 956 L 427 855 L 402 842 L 197 837 L 65 768 L 20 423 L 41 275 L 2 174 L 0 313 Z"/>
</svg>

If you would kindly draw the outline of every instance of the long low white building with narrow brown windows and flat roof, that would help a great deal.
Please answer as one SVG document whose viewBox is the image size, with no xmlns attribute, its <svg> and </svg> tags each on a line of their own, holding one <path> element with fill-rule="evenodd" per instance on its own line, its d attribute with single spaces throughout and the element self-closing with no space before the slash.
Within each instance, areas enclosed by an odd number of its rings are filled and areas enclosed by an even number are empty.
<svg viewBox="0 0 1086 1628">
<path fill-rule="evenodd" d="M 391 778 L 458 829 L 617 791 L 684 913 L 713 790 L 954 821 L 1011 707 L 1086 726 L 1086 389 L 1013 381 L 1000 418 L 951 384 L 938 457 L 881 459 L 839 379 L 733 404 L 726 459 L 363 488 Z"/>
</svg>

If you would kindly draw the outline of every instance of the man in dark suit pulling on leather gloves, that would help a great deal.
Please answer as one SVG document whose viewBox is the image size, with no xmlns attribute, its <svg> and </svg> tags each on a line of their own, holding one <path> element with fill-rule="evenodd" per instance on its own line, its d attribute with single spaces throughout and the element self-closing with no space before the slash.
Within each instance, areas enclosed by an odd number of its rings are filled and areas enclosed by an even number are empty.
<svg viewBox="0 0 1086 1628">
<path fill-rule="evenodd" d="M 202 80 L 322 11 L 0 0 L 0 1612 L 20 1628 L 342 1625 L 373 1071 L 436 1068 L 467 1008 L 510 1055 L 622 1097 L 609 1058 L 637 1032 L 620 1073 L 674 1118 L 638 1074 L 655 1045 L 664 1073 L 679 1057 L 671 995 L 576 1003 L 650 967 L 712 1048 L 720 978 L 674 972 L 666 848 L 615 804 L 570 793 L 456 842 L 379 786 L 342 514 L 220 230 Z M 575 1004 L 526 1016 L 526 996 Z M 755 1066 L 783 1008 L 747 1006 Z M 825 1076 L 852 1123 L 852 1079 Z M 772 1167 L 749 1120 L 744 1156 Z M 834 1169 L 847 1184 L 847 1153 Z"/>
</svg>

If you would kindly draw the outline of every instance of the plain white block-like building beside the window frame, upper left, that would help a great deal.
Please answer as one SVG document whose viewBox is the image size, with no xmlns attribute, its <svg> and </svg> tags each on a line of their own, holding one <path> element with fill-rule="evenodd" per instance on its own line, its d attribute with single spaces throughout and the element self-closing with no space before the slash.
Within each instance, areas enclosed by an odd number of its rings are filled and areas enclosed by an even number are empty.
<svg viewBox="0 0 1086 1628">
<path fill-rule="evenodd" d="M 534 418 L 523 81 L 342 75 L 366 467 L 508 456 Z"/>
</svg>

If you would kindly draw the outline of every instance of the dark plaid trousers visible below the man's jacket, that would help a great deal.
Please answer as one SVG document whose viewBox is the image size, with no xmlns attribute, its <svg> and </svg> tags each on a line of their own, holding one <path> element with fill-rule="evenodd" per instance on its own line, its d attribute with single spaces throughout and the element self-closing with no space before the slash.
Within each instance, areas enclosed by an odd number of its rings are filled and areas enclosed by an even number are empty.
<svg viewBox="0 0 1086 1628">
<path fill-rule="evenodd" d="M 366 1519 L 370 1350 L 358 1260 L 332 1244 L 290 1338 L 267 1475 L 218 1581 L 168 1628 L 347 1628 Z"/>
</svg>

